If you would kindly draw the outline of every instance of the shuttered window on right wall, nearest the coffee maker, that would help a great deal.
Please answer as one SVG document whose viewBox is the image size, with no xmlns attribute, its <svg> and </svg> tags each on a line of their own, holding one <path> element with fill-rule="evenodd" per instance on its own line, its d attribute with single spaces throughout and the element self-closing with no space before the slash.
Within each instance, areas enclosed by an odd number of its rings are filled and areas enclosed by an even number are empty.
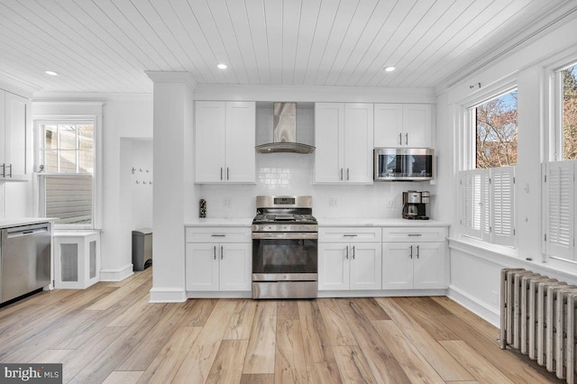
<svg viewBox="0 0 577 384">
<path fill-rule="evenodd" d="M 474 169 L 459 174 L 460 223 L 464 234 L 515 245 L 514 191 L 517 165 L 517 90 L 467 110 Z"/>
</svg>

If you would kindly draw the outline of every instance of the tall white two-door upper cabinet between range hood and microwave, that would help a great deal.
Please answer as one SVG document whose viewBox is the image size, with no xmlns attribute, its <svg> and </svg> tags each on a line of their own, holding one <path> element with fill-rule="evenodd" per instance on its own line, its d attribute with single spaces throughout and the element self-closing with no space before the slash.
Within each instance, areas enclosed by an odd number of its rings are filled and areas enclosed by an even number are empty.
<svg viewBox="0 0 577 384">
<path fill-rule="evenodd" d="M 372 104 L 316 103 L 316 183 L 372 183 L 372 125 Z"/>
</svg>

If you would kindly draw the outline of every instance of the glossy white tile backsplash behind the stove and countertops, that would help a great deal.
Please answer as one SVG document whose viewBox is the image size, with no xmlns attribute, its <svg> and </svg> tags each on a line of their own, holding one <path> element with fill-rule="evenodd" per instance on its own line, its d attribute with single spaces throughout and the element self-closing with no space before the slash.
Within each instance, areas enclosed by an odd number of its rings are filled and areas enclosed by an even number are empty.
<svg viewBox="0 0 577 384">
<path fill-rule="evenodd" d="M 202 185 L 198 198 L 206 199 L 207 217 L 252 217 L 257 195 L 311 195 L 316 217 L 392 218 L 401 215 L 403 191 L 429 188 L 426 182 L 313 184 L 314 166 L 314 153 L 257 153 L 256 184 Z"/>
</svg>

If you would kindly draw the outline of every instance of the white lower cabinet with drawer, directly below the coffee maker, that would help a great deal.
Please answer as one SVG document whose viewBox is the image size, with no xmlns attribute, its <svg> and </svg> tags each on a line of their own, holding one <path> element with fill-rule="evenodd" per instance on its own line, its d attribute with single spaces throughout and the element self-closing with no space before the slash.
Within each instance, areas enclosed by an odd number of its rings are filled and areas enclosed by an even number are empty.
<svg viewBox="0 0 577 384">
<path fill-rule="evenodd" d="M 382 288 L 447 288 L 446 232 L 446 227 L 383 228 Z"/>
</svg>

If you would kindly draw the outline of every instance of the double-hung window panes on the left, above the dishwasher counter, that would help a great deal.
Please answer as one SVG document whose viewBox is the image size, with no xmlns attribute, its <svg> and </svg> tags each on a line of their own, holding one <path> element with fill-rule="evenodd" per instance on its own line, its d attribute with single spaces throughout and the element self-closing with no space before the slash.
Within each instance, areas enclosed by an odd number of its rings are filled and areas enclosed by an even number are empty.
<svg viewBox="0 0 577 384">
<path fill-rule="evenodd" d="M 94 118 L 37 120 L 36 169 L 40 215 L 58 218 L 60 228 L 94 228 Z"/>
</svg>

